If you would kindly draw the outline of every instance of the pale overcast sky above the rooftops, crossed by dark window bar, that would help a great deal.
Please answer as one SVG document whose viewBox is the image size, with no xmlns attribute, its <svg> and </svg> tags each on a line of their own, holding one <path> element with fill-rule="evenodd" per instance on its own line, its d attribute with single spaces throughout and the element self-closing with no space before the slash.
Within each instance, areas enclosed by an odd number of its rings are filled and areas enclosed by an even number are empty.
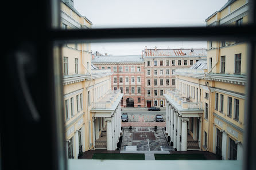
<svg viewBox="0 0 256 170">
<path fill-rule="evenodd" d="M 74 7 L 93 28 L 145 26 L 205 26 L 205 19 L 227 0 L 74 0 Z M 141 54 L 148 48 L 206 48 L 206 42 L 135 42 L 91 44 L 92 52 Z"/>
</svg>

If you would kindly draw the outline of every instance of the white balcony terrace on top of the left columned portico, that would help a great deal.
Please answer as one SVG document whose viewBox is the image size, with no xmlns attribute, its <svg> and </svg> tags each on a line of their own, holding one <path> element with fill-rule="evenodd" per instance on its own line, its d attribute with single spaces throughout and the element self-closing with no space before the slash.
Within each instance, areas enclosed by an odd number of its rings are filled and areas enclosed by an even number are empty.
<svg viewBox="0 0 256 170">
<path fill-rule="evenodd" d="M 106 96 L 102 97 L 98 102 L 92 104 L 92 110 L 111 110 L 117 108 L 123 94 L 121 90 L 109 90 Z"/>
</svg>

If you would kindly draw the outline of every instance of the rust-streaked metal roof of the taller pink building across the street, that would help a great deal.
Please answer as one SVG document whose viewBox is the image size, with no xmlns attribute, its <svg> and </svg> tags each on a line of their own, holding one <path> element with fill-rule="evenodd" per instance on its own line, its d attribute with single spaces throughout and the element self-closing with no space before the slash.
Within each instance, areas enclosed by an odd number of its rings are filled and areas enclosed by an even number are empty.
<svg viewBox="0 0 256 170">
<path fill-rule="evenodd" d="M 145 57 L 207 57 L 206 49 L 145 49 Z"/>
</svg>

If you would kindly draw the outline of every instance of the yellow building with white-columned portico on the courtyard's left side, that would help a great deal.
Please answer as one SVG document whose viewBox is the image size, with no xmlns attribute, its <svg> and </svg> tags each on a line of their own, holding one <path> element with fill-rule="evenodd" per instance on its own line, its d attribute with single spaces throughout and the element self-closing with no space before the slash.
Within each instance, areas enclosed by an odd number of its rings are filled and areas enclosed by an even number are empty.
<svg viewBox="0 0 256 170">
<path fill-rule="evenodd" d="M 73 1 L 61 1 L 60 13 L 62 29 L 92 27 L 92 22 L 73 7 Z M 96 139 L 99 139 L 102 131 L 107 128 L 107 119 L 114 125 L 113 131 L 119 128 L 121 132 L 121 119 L 116 118 L 114 123 L 114 120 L 111 122 L 111 117 L 121 114 L 119 103 L 122 94 L 119 91 L 111 91 L 111 70 L 96 69 L 91 64 L 91 57 L 90 44 L 63 45 L 63 93 L 68 159 L 77 159 L 82 152 L 95 149 Z M 100 105 L 99 102 L 104 98 L 108 100 Z M 108 149 L 117 148 L 114 142 L 118 143 L 120 133 L 115 132 L 116 134 L 108 133 L 108 136 L 115 135 L 116 138 L 115 141 L 108 142 L 113 145 Z M 107 145 L 107 141 L 105 144 Z"/>
</svg>

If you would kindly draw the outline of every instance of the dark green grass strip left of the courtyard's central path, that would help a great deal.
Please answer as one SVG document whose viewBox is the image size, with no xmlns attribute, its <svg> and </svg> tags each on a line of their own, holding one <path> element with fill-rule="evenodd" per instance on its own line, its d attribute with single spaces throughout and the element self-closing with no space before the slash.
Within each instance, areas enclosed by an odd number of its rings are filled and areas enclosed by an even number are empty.
<svg viewBox="0 0 256 170">
<path fill-rule="evenodd" d="M 145 160 L 143 153 L 94 153 L 92 159 Z"/>
</svg>

